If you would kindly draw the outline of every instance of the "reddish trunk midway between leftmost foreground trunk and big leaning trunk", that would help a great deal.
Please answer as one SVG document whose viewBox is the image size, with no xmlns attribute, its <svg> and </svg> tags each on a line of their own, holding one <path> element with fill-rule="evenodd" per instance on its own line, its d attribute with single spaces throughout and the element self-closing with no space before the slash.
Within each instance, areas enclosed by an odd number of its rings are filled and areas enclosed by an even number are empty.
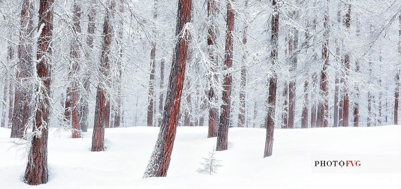
<svg viewBox="0 0 401 189">
<path fill-rule="evenodd" d="M 92 135 L 92 149 L 91 151 L 104 151 L 104 128 L 109 127 L 110 119 L 110 101 L 109 94 L 106 93 L 106 89 L 109 88 L 109 54 L 110 45 L 113 38 L 113 27 L 110 23 L 110 17 L 113 11 L 114 3 L 112 2 L 109 9 L 106 12 L 104 23 L 103 23 L 103 42 L 102 50 L 100 55 L 100 78 L 97 84 L 96 93 L 96 106 L 95 106 L 95 123 L 93 124 L 93 135 Z"/>
</svg>

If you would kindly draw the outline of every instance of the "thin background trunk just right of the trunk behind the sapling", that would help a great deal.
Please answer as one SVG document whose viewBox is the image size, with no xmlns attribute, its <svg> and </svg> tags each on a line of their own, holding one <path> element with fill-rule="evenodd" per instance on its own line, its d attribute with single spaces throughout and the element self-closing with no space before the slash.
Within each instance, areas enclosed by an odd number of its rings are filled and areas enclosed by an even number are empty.
<svg viewBox="0 0 401 189">
<path fill-rule="evenodd" d="M 245 8 L 248 7 L 248 0 L 245 0 Z M 242 44 L 245 46 L 247 44 L 247 24 L 244 24 L 244 31 L 242 34 Z M 238 113 L 238 125 L 237 127 L 244 127 L 245 125 L 245 86 L 247 81 L 247 70 L 245 68 L 245 58 L 246 51 L 244 50 L 242 56 L 242 64 L 241 64 L 241 83 L 240 83 L 240 91 L 239 91 L 239 113 Z"/>
</svg>

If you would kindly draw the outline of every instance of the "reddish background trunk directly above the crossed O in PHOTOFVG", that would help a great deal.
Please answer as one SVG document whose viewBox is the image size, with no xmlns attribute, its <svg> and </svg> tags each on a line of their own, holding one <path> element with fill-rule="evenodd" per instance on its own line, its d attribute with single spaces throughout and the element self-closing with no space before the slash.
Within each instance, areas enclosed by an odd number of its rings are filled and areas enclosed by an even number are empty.
<svg viewBox="0 0 401 189">
<path fill-rule="evenodd" d="M 347 30 L 350 29 L 351 21 L 351 5 L 348 4 L 348 11 L 345 15 L 345 26 Z M 342 110 L 342 126 L 348 127 L 348 115 L 349 115 L 349 96 L 348 96 L 348 76 L 350 69 L 350 56 L 345 54 L 344 56 L 344 66 L 345 66 L 345 78 L 344 78 L 344 100 L 343 100 L 343 110 Z"/>
</svg>

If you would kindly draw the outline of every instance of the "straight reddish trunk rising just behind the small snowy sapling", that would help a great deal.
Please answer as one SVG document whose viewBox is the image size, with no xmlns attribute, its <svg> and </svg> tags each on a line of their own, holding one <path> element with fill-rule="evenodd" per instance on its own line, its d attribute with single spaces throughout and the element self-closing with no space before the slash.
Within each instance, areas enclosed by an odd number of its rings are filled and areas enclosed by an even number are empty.
<svg viewBox="0 0 401 189">
<path fill-rule="evenodd" d="M 233 29 L 234 29 L 234 10 L 232 8 L 233 0 L 227 2 L 227 31 L 225 42 L 225 59 L 224 59 L 224 82 L 223 82 L 223 95 L 221 97 L 221 114 L 219 120 L 219 128 L 217 130 L 217 144 L 216 151 L 227 149 L 228 143 L 228 128 L 230 125 L 231 113 L 231 88 L 233 78 L 228 70 L 233 64 Z"/>
</svg>

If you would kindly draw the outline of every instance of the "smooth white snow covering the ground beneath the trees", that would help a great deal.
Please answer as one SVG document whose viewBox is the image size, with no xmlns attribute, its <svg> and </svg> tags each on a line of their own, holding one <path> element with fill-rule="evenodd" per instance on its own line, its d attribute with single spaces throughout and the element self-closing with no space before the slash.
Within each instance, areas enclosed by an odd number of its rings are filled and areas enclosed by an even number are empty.
<svg viewBox="0 0 401 189">
<path fill-rule="evenodd" d="M 12 147 L 10 129 L 0 128 L 1 189 L 401 189 L 401 174 L 311 173 L 312 154 L 401 154 L 401 126 L 275 129 L 273 155 L 263 158 L 265 129 L 230 128 L 229 149 L 215 175 L 202 175 L 216 138 L 207 127 L 178 127 L 167 177 L 142 179 L 157 127 L 105 129 L 107 151 L 91 152 L 92 130 L 81 139 L 49 134 L 49 183 L 22 183 L 24 145 Z M 20 149 L 20 151 L 17 151 Z"/>
</svg>

